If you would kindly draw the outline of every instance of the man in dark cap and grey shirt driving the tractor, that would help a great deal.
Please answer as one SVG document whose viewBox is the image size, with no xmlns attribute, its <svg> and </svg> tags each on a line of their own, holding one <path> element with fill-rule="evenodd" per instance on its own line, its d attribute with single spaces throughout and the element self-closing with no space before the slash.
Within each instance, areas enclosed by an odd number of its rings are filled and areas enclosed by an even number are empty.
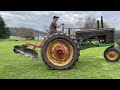
<svg viewBox="0 0 120 90">
<path fill-rule="evenodd" d="M 57 28 L 60 28 L 62 25 L 64 25 L 64 23 L 60 24 L 60 25 L 57 25 L 57 21 L 58 21 L 58 16 L 54 16 L 53 17 L 53 21 L 51 22 L 50 24 L 50 27 L 49 27 L 49 34 L 53 34 L 55 32 L 57 32 Z"/>
</svg>

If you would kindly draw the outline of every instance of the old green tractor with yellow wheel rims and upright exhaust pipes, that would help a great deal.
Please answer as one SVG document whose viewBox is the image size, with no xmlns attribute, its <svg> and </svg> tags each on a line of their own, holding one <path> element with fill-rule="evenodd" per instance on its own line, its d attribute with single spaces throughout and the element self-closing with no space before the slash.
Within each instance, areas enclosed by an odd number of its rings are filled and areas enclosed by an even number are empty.
<svg viewBox="0 0 120 90">
<path fill-rule="evenodd" d="M 104 57 L 107 61 L 115 62 L 120 59 L 120 42 L 115 47 L 114 28 L 104 28 L 103 18 L 101 17 L 101 28 L 99 28 L 99 21 L 97 21 L 97 29 L 80 29 L 78 28 L 64 28 L 61 33 L 54 33 L 44 39 L 42 42 L 41 57 L 43 62 L 50 69 L 66 70 L 71 69 L 76 65 L 80 57 L 80 50 L 83 43 L 98 41 L 97 46 L 109 46 L 104 51 Z M 68 32 L 65 32 L 67 30 Z M 74 32 L 74 35 L 72 33 Z M 32 45 L 32 44 L 29 44 Z M 87 44 L 86 44 L 87 45 Z M 35 47 L 36 45 L 32 45 Z M 14 52 L 19 53 L 14 47 Z M 32 52 L 35 52 L 32 50 Z M 34 55 L 37 55 L 37 53 Z"/>
</svg>

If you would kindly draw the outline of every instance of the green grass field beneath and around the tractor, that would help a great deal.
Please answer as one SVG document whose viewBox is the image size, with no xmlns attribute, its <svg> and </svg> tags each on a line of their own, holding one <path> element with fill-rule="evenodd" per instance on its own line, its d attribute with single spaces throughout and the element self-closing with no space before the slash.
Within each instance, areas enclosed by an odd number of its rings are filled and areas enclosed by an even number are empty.
<svg viewBox="0 0 120 90">
<path fill-rule="evenodd" d="M 39 44 L 39 41 L 30 41 Z M 50 70 L 40 58 L 37 61 L 13 53 L 14 45 L 25 41 L 0 42 L 0 79 L 117 79 L 120 61 L 107 62 L 103 52 L 107 47 L 81 50 L 78 63 L 70 70 Z M 39 50 L 40 57 L 40 50 Z"/>
</svg>

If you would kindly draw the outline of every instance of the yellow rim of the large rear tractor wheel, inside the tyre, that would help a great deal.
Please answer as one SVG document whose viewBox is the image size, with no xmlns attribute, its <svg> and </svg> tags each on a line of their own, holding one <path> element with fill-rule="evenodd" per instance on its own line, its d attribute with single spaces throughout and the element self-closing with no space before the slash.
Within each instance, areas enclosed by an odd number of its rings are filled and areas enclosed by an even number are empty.
<svg viewBox="0 0 120 90">
<path fill-rule="evenodd" d="M 57 46 L 63 47 L 65 52 L 63 58 L 57 58 L 54 54 Z M 48 45 L 46 50 L 46 56 L 53 65 L 65 66 L 72 60 L 74 53 L 73 51 L 73 46 L 68 41 L 63 39 L 55 39 Z"/>
</svg>

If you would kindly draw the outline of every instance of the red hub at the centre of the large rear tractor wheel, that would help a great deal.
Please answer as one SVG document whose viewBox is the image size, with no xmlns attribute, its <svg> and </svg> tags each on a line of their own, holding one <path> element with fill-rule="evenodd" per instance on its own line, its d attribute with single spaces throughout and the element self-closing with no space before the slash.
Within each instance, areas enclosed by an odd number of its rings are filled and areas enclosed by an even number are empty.
<svg viewBox="0 0 120 90">
<path fill-rule="evenodd" d="M 57 45 L 54 50 L 54 56 L 57 59 L 64 59 L 66 55 L 66 50 L 62 45 Z"/>
</svg>

